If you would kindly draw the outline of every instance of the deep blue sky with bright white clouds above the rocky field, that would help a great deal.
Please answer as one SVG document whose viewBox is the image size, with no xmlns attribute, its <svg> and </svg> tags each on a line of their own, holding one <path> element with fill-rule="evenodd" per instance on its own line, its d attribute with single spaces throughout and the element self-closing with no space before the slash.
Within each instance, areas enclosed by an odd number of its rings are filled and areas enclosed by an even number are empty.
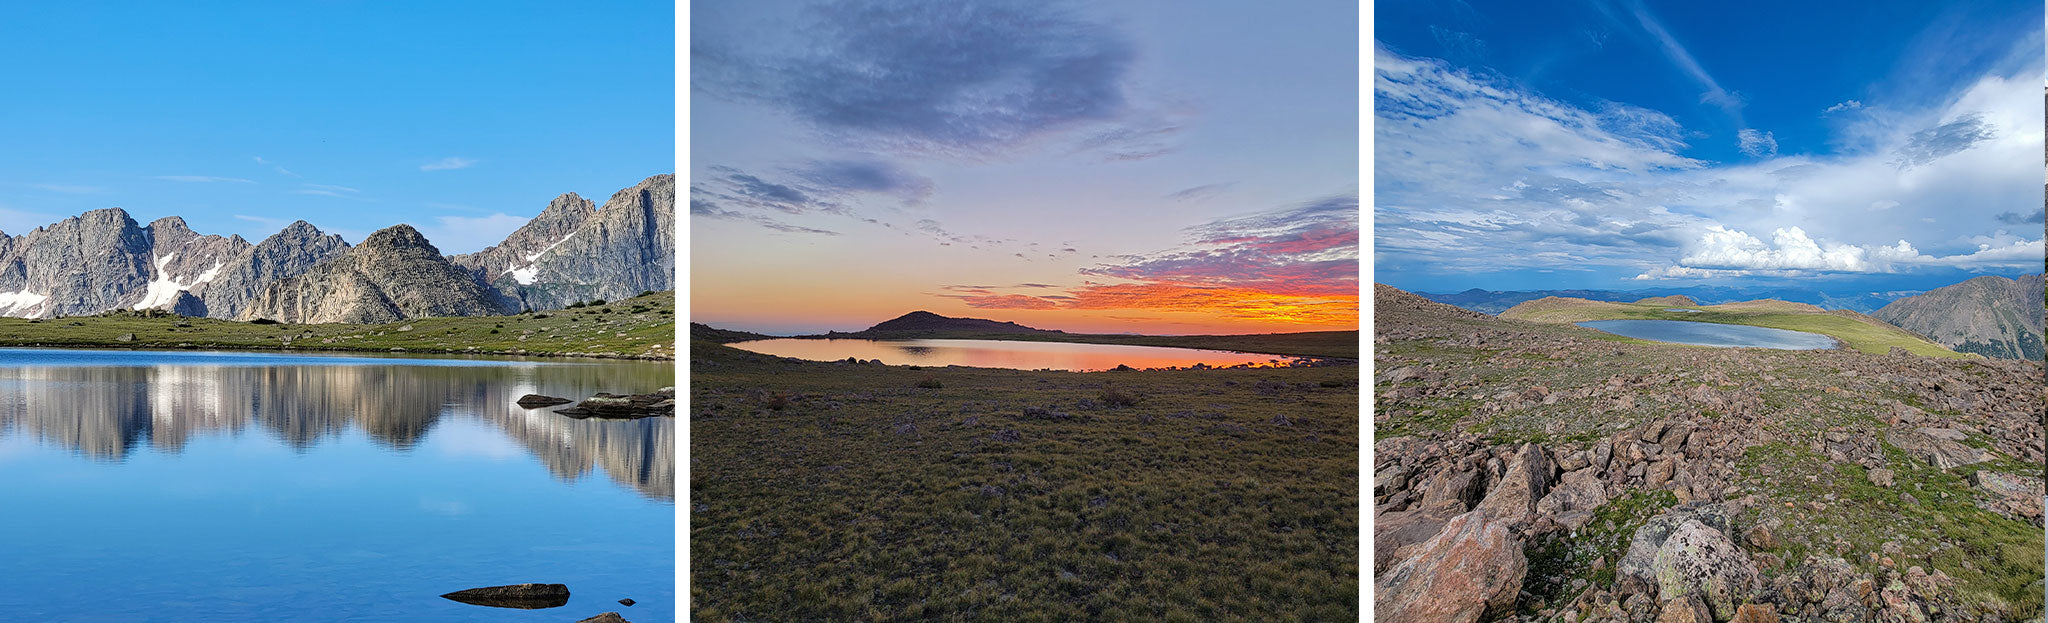
<svg viewBox="0 0 2048 623">
<path fill-rule="evenodd" d="M 2040 2 L 1380 2 L 1374 279 L 2042 271 Z"/>
</svg>

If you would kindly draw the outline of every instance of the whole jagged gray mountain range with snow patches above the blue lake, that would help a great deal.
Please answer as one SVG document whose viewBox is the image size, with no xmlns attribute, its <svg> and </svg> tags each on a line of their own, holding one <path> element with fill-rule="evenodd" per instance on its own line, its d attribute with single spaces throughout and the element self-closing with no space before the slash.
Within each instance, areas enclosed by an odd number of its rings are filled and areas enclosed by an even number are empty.
<svg viewBox="0 0 2048 623">
<path fill-rule="evenodd" d="M 391 322 L 559 309 L 674 289 L 676 176 L 618 191 L 604 207 L 573 193 L 504 242 L 442 256 L 410 225 L 360 246 L 307 221 L 250 244 L 201 236 L 180 217 L 135 223 L 94 209 L 0 234 L 0 316 L 111 309 L 281 322 Z"/>
</svg>

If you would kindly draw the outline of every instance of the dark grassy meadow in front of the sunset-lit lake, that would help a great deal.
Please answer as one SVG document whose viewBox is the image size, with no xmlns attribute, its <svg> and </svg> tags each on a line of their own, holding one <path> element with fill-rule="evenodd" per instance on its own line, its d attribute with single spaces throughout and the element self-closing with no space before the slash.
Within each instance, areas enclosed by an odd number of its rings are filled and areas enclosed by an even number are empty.
<svg viewBox="0 0 2048 623">
<path fill-rule="evenodd" d="M 1356 365 L 690 373 L 696 621 L 1358 617 Z"/>
</svg>

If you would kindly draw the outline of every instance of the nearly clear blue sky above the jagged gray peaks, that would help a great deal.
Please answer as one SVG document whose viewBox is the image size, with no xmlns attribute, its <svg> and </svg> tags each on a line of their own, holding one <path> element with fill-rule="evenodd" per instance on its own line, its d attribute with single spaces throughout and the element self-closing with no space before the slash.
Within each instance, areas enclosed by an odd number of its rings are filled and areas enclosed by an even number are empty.
<svg viewBox="0 0 2048 623">
<path fill-rule="evenodd" d="M 496 244 L 674 172 L 662 2 L 6 2 L 0 230 L 98 207 L 262 240 Z"/>
</svg>

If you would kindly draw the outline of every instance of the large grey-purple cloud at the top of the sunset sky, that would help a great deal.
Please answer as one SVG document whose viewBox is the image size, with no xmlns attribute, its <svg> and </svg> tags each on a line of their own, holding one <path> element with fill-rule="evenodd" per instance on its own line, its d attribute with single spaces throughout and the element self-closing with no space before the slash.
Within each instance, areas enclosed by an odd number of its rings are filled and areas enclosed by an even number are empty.
<svg viewBox="0 0 2048 623">
<path fill-rule="evenodd" d="M 997 152 L 1130 109 L 1133 45 L 1065 4 L 856 0 L 807 14 L 805 43 L 782 55 L 692 47 L 696 88 L 926 154 Z"/>
</svg>

